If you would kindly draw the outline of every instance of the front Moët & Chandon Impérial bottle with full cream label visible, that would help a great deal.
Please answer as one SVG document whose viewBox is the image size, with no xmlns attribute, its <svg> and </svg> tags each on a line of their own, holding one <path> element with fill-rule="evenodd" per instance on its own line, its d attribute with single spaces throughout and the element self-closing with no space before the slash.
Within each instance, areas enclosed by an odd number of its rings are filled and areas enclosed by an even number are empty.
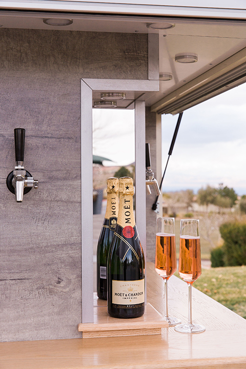
<svg viewBox="0 0 246 369">
<path fill-rule="evenodd" d="M 119 179 L 119 213 L 108 256 L 108 313 L 137 318 L 145 312 L 145 258 L 133 213 L 133 180 Z"/>
</svg>

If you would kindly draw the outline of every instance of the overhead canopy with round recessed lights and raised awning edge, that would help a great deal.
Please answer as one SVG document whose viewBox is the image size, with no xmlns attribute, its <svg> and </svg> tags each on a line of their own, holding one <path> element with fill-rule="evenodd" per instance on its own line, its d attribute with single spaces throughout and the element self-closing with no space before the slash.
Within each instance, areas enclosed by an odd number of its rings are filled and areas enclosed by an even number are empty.
<svg viewBox="0 0 246 369">
<path fill-rule="evenodd" d="M 137 81 L 144 84 L 144 93 L 126 89 L 126 99 L 118 100 L 116 109 L 134 109 L 134 101 L 145 100 L 153 112 L 177 114 L 246 81 L 246 9 L 241 0 L 233 3 L 229 0 L 8 0 L 0 3 L 2 32 L 6 28 L 26 28 L 132 33 L 135 38 L 148 42 L 149 74 Z M 72 23 L 49 25 L 44 23 L 44 18 L 65 18 Z M 157 55 L 153 59 L 153 54 L 159 54 L 159 58 Z M 197 61 L 180 62 L 176 59 L 180 54 L 195 55 Z M 154 77 L 153 63 L 159 66 L 159 73 Z M 146 81 L 157 81 L 159 74 L 162 75 L 159 91 L 147 89 Z M 100 98 L 98 91 L 95 96 L 93 93 L 93 101 Z M 120 92 L 125 92 L 123 87 Z"/>
</svg>

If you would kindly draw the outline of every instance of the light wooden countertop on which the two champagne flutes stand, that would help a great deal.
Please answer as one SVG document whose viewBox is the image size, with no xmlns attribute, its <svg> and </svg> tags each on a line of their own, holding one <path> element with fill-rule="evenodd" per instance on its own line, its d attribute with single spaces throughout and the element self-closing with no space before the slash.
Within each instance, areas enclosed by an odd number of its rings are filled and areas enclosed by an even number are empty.
<svg viewBox="0 0 246 369">
<path fill-rule="evenodd" d="M 169 280 L 169 313 L 187 322 L 187 284 Z M 147 264 L 147 297 L 163 314 L 163 281 Z M 0 343 L 0 369 L 246 368 L 246 320 L 193 289 L 199 334 L 163 328 L 162 335 Z"/>
</svg>

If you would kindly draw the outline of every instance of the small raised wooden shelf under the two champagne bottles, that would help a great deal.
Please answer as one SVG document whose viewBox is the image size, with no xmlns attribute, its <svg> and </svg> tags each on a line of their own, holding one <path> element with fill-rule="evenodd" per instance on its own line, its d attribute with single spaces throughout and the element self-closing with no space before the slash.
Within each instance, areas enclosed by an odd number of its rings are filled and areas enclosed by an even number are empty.
<svg viewBox="0 0 246 369">
<path fill-rule="evenodd" d="M 78 331 L 83 338 L 146 336 L 161 334 L 161 328 L 168 327 L 166 319 L 150 303 L 140 318 L 117 319 L 107 312 L 107 301 L 94 294 L 94 323 L 79 323 Z"/>
</svg>

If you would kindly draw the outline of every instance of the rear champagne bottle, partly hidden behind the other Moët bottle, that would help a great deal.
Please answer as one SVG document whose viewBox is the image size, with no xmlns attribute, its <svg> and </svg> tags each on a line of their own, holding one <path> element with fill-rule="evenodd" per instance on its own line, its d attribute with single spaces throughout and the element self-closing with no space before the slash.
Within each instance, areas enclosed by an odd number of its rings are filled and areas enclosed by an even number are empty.
<svg viewBox="0 0 246 369">
<path fill-rule="evenodd" d="M 107 300 L 107 258 L 117 223 L 119 180 L 107 179 L 107 208 L 97 244 L 97 296 Z"/>
</svg>

